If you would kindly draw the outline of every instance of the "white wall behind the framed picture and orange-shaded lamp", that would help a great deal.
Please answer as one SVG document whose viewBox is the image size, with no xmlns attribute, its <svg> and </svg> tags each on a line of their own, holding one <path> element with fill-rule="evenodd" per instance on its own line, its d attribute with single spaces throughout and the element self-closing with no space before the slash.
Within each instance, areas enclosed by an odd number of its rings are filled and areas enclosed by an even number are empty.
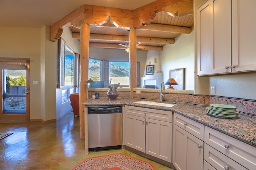
<svg viewBox="0 0 256 170">
<path fill-rule="evenodd" d="M 164 45 L 160 62 L 164 82 L 171 69 L 185 68 L 185 90 L 194 90 L 194 31 L 178 36 L 174 44 Z"/>
</svg>

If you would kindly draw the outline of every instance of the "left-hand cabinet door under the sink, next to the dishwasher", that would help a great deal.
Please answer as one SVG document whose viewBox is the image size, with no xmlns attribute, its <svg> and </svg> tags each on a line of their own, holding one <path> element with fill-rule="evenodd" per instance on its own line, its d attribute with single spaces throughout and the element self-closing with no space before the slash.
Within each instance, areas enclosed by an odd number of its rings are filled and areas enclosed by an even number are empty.
<svg viewBox="0 0 256 170">
<path fill-rule="evenodd" d="M 125 115 L 125 145 L 145 152 L 145 118 Z"/>
</svg>

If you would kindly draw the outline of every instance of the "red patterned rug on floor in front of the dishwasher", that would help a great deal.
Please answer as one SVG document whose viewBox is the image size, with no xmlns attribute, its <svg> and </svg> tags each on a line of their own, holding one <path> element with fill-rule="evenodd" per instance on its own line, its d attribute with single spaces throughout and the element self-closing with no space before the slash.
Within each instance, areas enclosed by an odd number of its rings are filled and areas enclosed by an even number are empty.
<svg viewBox="0 0 256 170">
<path fill-rule="evenodd" d="M 72 170 L 155 170 L 155 168 L 150 162 L 118 153 L 88 158 Z"/>
</svg>

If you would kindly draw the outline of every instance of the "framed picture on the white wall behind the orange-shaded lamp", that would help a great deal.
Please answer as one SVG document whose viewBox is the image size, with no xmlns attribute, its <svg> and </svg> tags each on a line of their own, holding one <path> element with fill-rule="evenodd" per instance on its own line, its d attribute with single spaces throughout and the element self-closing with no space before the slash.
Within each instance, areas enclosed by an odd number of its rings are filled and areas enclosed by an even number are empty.
<svg viewBox="0 0 256 170">
<path fill-rule="evenodd" d="M 185 68 L 175 68 L 170 70 L 170 78 L 174 78 L 179 84 L 174 86 L 176 90 L 185 90 Z"/>
</svg>

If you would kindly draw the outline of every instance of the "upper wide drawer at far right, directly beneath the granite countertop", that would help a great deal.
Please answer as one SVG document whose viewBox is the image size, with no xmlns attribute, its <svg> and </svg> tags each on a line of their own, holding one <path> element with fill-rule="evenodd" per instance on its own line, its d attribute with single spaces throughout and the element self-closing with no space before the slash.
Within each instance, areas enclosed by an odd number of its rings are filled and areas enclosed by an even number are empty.
<svg viewBox="0 0 256 170">
<path fill-rule="evenodd" d="M 207 126 L 204 142 L 249 170 L 256 170 L 256 147 Z"/>
</svg>

